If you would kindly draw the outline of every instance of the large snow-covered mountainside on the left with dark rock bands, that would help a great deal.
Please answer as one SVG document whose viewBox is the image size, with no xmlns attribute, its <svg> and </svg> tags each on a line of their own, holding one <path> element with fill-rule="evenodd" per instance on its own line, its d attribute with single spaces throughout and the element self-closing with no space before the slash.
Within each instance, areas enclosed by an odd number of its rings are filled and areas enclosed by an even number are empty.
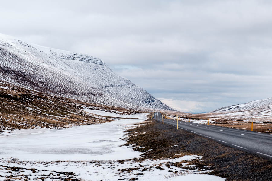
<svg viewBox="0 0 272 181">
<path fill-rule="evenodd" d="M 90 103 L 173 110 L 100 59 L 0 34 L 0 81 Z"/>
</svg>

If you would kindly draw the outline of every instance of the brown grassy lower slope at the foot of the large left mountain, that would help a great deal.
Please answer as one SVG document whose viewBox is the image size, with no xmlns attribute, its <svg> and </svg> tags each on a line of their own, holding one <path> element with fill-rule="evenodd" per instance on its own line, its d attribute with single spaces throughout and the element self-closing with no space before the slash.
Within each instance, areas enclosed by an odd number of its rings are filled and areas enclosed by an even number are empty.
<svg viewBox="0 0 272 181">
<path fill-rule="evenodd" d="M 97 105 L 20 87 L 0 86 L 0 133 L 2 130 L 30 128 L 66 128 L 72 125 L 103 123 L 112 117 L 95 116 L 82 109 L 116 110 L 127 114 L 140 113 L 113 106 Z M 102 119 L 106 118 L 106 119 Z"/>
</svg>

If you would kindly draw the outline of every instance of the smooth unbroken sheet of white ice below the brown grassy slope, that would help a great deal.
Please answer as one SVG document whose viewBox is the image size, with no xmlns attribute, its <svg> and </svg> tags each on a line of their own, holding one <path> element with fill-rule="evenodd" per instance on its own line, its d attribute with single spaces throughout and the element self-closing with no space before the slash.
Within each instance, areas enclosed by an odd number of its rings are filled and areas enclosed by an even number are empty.
<svg viewBox="0 0 272 181">
<path fill-rule="evenodd" d="M 125 144 L 127 126 L 146 120 L 147 113 L 138 119 L 122 119 L 102 124 L 76 126 L 68 129 L 28 129 L 13 131 L 0 137 L 0 158 L 25 161 L 125 160 L 141 155 Z"/>
</svg>

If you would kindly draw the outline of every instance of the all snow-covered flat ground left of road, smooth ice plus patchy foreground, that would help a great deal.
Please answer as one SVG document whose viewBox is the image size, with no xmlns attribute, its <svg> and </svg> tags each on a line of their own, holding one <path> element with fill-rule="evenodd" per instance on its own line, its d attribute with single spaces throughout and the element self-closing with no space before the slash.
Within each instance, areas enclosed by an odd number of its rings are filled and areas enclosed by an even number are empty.
<svg viewBox="0 0 272 181">
<path fill-rule="evenodd" d="M 112 113 L 96 112 L 112 116 Z M 198 155 L 185 155 L 164 160 L 139 161 L 141 153 L 125 143 L 124 130 L 146 120 L 146 113 L 133 115 L 137 119 L 121 119 L 108 123 L 76 126 L 69 129 L 17 130 L 0 137 L 0 180 L 204 180 L 225 179 L 206 173 L 176 167 L 189 167 L 186 161 L 201 160 Z M 121 115 L 123 116 L 123 115 Z M 132 118 L 132 116 L 128 116 Z M 169 172 L 170 171 L 170 172 Z M 173 172 L 184 172 L 168 178 Z"/>
</svg>

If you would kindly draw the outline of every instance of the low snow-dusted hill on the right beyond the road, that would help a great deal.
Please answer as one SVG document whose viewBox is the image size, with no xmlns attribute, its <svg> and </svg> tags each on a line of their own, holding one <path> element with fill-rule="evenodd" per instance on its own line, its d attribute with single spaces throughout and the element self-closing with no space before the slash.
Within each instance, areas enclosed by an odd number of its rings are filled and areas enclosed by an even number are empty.
<svg viewBox="0 0 272 181">
<path fill-rule="evenodd" d="M 271 121 L 272 98 L 254 100 L 244 104 L 222 107 L 210 113 L 200 115 L 212 119 Z"/>
</svg>

